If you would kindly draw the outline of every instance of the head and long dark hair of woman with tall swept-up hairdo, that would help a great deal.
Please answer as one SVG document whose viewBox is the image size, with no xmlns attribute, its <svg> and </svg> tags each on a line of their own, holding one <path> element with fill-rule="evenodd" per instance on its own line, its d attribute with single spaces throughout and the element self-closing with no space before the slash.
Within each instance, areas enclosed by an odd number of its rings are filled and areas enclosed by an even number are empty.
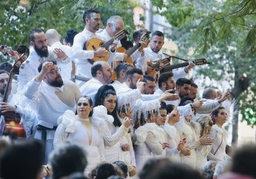
<svg viewBox="0 0 256 179">
<path fill-rule="evenodd" d="M 118 99 L 115 89 L 111 85 L 103 85 L 99 88 L 94 98 L 94 107 L 103 105 L 108 110 L 108 115 L 114 117 L 113 124 L 117 127 L 121 126 L 120 119 L 118 117 Z"/>
</svg>

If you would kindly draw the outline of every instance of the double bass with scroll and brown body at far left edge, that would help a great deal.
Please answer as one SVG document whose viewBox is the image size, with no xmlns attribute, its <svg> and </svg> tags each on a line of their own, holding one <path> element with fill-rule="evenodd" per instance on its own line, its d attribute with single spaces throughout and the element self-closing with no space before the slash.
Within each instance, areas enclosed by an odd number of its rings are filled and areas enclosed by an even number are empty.
<svg viewBox="0 0 256 179">
<path fill-rule="evenodd" d="M 10 75 L 8 78 L 8 82 L 6 84 L 6 88 L 3 93 L 3 102 L 8 101 L 8 96 L 10 94 L 10 84 L 13 81 L 13 76 L 20 72 L 21 64 L 29 57 L 29 48 L 25 45 L 20 45 L 17 49 L 17 52 L 22 54 L 19 59 L 13 64 L 13 69 L 10 70 Z M 6 126 L 4 131 L 13 131 L 17 134 L 18 137 L 25 138 L 26 133 L 22 124 L 20 124 L 20 114 L 15 113 L 14 111 L 9 111 L 6 113 L 1 113 L 3 115 L 4 120 L 6 122 Z"/>
</svg>

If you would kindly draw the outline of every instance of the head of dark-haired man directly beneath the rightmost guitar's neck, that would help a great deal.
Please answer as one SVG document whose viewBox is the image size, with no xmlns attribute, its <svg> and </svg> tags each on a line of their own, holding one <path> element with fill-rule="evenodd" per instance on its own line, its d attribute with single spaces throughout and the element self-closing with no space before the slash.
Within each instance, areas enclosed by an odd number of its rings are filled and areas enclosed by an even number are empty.
<svg viewBox="0 0 256 179">
<path fill-rule="evenodd" d="M 158 87 L 162 92 L 165 92 L 166 90 L 174 90 L 175 85 L 173 73 L 163 73 L 159 76 Z"/>
</svg>

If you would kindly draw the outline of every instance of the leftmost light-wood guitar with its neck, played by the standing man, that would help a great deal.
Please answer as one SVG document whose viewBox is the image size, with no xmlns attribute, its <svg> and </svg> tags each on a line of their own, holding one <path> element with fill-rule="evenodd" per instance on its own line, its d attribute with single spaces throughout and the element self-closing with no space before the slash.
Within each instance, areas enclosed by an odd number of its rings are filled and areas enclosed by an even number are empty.
<svg viewBox="0 0 256 179">
<path fill-rule="evenodd" d="M 99 38 L 91 38 L 89 41 L 87 41 L 84 45 L 84 50 L 97 50 L 97 48 L 106 48 L 108 50 L 108 47 L 113 43 L 113 41 L 118 40 L 120 41 L 122 38 L 127 36 L 128 32 L 122 29 L 121 31 L 118 31 L 113 38 L 109 41 L 103 41 Z M 107 55 L 105 57 L 94 57 L 93 61 L 108 61 L 109 52 L 107 52 Z"/>
</svg>

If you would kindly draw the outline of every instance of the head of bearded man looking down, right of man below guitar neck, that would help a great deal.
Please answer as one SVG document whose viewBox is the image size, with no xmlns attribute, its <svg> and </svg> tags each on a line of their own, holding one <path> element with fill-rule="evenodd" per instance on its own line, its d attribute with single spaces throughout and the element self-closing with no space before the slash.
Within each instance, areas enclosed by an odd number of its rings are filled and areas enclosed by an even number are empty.
<svg viewBox="0 0 256 179">
<path fill-rule="evenodd" d="M 190 87 L 191 80 L 187 78 L 178 78 L 178 80 L 176 80 L 176 90 L 181 99 L 190 93 Z"/>
</svg>

